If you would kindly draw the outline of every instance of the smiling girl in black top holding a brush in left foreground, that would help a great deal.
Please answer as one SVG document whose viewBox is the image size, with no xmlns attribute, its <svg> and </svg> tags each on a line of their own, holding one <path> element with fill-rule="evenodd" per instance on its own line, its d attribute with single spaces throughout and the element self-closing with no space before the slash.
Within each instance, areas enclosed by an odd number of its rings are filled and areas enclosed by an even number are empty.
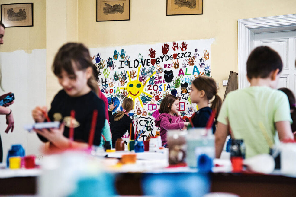
<svg viewBox="0 0 296 197">
<path fill-rule="evenodd" d="M 98 110 L 95 125 L 94 145 L 101 141 L 101 130 L 105 123 L 104 102 L 97 96 L 97 83 L 93 75 L 93 64 L 88 49 L 81 43 L 67 43 L 57 52 L 53 62 L 53 73 L 63 87 L 51 103 L 48 112 L 50 121 L 60 121 L 58 129 L 35 130 L 41 141 L 50 141 L 50 148 L 86 148 L 94 110 Z M 74 119 L 71 111 L 74 110 Z M 46 119 L 46 106 L 37 106 L 32 111 L 36 122 Z M 74 141 L 70 143 L 69 127 L 74 127 Z M 53 145 L 53 146 L 51 146 Z"/>
</svg>

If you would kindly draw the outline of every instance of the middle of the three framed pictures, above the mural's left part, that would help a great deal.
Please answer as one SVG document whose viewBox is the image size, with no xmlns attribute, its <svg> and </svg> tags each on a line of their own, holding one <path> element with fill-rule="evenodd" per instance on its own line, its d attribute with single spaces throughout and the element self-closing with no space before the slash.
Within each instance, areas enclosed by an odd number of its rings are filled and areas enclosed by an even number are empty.
<svg viewBox="0 0 296 197">
<path fill-rule="evenodd" d="M 130 0 L 97 0 L 97 21 L 130 20 Z"/>
</svg>

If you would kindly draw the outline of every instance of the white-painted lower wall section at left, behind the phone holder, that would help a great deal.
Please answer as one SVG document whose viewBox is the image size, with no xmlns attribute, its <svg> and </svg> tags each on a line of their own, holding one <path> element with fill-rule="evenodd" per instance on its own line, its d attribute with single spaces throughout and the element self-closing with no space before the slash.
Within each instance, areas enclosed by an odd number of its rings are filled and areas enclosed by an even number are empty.
<svg viewBox="0 0 296 197">
<path fill-rule="evenodd" d="M 26 155 L 41 153 L 40 141 L 36 133 L 28 133 L 23 126 L 34 123 L 31 111 L 36 106 L 45 105 L 46 95 L 46 49 L 0 52 L 2 79 L 5 92 L 13 92 L 14 103 L 9 106 L 14 117 L 14 130 L 4 133 L 7 125 L 5 116 L 0 116 L 0 132 L 3 145 L 3 162 L 13 144 L 21 144 Z"/>
</svg>

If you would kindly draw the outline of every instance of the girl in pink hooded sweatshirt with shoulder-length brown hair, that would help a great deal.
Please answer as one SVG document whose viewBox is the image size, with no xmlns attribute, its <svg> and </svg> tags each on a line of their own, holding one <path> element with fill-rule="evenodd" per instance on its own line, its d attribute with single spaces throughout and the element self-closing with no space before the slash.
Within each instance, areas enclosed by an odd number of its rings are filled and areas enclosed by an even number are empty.
<svg viewBox="0 0 296 197">
<path fill-rule="evenodd" d="M 162 146 L 166 145 L 168 130 L 186 129 L 189 122 L 185 122 L 178 116 L 179 99 L 172 94 L 168 94 L 159 106 L 160 115 L 155 119 L 155 126 L 160 127 Z"/>
</svg>

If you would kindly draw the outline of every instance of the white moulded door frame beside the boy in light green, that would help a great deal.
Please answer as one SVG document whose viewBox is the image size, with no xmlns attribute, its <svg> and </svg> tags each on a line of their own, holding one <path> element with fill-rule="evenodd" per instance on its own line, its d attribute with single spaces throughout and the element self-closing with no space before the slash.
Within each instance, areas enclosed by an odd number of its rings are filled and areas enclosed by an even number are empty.
<svg viewBox="0 0 296 197">
<path fill-rule="evenodd" d="M 238 87 L 249 87 L 246 62 L 254 48 L 254 33 L 296 30 L 296 14 L 238 20 Z"/>
</svg>

